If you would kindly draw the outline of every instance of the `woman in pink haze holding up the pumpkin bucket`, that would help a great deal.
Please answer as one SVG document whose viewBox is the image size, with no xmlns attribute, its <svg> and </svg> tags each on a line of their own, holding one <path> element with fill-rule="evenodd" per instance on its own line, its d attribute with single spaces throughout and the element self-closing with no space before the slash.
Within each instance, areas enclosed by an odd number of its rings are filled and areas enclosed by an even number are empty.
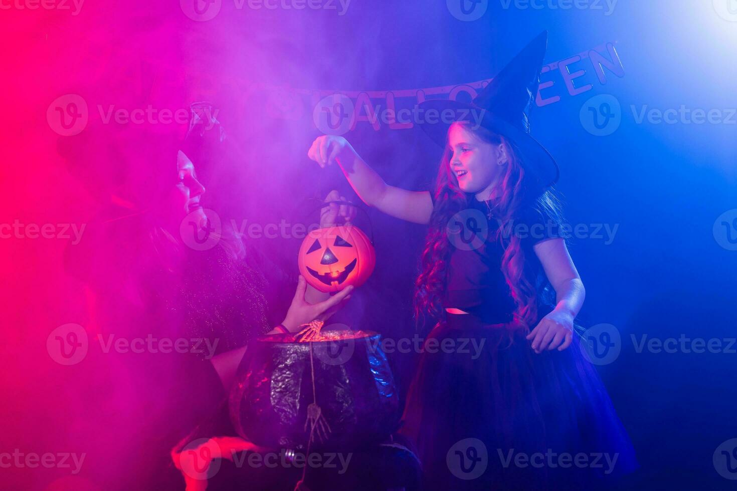
<svg viewBox="0 0 737 491">
<path fill-rule="evenodd" d="M 328 298 L 225 220 L 214 227 L 200 202 L 205 186 L 172 133 L 93 125 L 59 143 L 70 172 L 100 202 L 84 239 L 66 250 L 69 272 L 84 284 L 91 336 L 65 421 L 85 442 L 85 476 L 100 487 L 181 487 L 170 450 L 222 407 L 244 346 L 325 319 L 352 291 Z M 352 216 L 330 205 L 321 224 Z M 214 247 L 192 247 L 215 234 Z M 129 348 L 116 347 L 118 339 Z"/>
</svg>

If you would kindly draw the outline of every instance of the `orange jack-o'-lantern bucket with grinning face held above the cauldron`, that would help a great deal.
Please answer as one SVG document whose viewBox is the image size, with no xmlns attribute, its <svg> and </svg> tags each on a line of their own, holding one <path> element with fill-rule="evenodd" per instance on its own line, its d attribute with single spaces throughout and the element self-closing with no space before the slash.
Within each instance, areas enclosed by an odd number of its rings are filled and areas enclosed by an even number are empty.
<svg viewBox="0 0 737 491">
<path fill-rule="evenodd" d="M 354 225 L 313 230 L 298 255 L 299 272 L 321 292 L 361 286 L 374 272 L 376 253 L 366 234 Z"/>
</svg>

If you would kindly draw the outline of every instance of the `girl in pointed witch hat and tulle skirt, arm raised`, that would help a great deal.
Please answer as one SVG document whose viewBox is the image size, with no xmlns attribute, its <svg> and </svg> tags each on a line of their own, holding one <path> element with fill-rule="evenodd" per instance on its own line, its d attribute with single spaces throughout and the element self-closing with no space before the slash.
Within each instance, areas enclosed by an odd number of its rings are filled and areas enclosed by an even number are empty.
<svg viewBox="0 0 737 491">
<path fill-rule="evenodd" d="M 444 146 L 434 194 L 388 186 L 344 138 L 321 136 L 308 152 L 337 162 L 367 205 L 430 226 L 415 313 L 436 319 L 436 346 L 483 346 L 475 359 L 420 357 L 401 432 L 429 489 L 601 489 L 637 467 L 581 352 L 584 285 L 560 233 L 558 167 L 529 134 L 546 46 L 543 32 L 470 104 L 420 105 L 459 116 L 421 124 Z"/>
</svg>

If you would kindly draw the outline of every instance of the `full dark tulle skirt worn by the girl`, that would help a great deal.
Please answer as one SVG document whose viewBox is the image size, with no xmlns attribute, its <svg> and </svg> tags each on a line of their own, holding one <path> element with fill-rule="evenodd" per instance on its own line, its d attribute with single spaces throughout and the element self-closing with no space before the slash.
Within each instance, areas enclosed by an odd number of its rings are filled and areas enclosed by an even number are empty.
<svg viewBox="0 0 737 491">
<path fill-rule="evenodd" d="M 537 354 L 525 334 L 449 314 L 427 336 L 400 431 L 426 489 L 598 490 L 638 467 L 579 342 Z"/>
</svg>

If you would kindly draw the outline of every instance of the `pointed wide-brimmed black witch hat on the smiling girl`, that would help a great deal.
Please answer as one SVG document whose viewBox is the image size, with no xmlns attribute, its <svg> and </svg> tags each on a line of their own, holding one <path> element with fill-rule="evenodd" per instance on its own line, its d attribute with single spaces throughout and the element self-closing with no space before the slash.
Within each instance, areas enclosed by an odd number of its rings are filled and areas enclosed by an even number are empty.
<svg viewBox="0 0 737 491">
<path fill-rule="evenodd" d="M 430 99 L 420 103 L 427 114 L 433 109 L 442 115 L 453 110 L 455 121 L 480 121 L 481 127 L 509 138 L 522 152 L 525 172 L 535 182 L 537 191 L 552 186 L 559 177 L 553 156 L 530 135 L 530 110 L 535 103 L 542 60 L 548 46 L 548 32 L 541 32 L 470 103 L 449 99 Z M 472 117 L 473 116 L 473 117 Z M 453 118 L 442 118 L 436 123 L 422 122 L 420 126 L 433 141 L 444 146 Z"/>
</svg>

